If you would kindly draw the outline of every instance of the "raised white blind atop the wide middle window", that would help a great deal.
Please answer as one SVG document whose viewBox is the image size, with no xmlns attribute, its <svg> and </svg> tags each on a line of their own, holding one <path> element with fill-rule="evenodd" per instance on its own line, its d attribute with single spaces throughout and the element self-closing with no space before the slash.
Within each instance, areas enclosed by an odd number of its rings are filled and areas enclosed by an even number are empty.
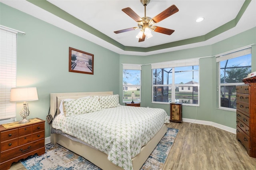
<svg viewBox="0 0 256 170">
<path fill-rule="evenodd" d="M 170 67 L 184 67 L 190 65 L 199 65 L 199 59 L 184 59 L 162 63 L 151 64 L 152 69 L 170 68 Z"/>
</svg>

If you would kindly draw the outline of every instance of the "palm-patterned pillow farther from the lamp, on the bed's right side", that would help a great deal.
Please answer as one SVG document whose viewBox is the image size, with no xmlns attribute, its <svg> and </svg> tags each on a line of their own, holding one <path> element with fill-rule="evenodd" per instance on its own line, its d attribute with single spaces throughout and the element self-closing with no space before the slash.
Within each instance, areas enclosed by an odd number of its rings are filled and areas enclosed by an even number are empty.
<svg viewBox="0 0 256 170">
<path fill-rule="evenodd" d="M 110 108 L 110 107 L 120 106 L 119 95 L 100 96 L 100 105 L 101 105 L 101 108 Z"/>
</svg>

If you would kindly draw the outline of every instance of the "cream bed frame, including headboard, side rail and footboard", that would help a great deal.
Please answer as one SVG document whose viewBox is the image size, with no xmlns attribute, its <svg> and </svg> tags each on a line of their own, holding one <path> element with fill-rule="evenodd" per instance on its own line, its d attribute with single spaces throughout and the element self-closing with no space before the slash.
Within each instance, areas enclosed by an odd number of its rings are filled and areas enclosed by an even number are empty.
<svg viewBox="0 0 256 170">
<path fill-rule="evenodd" d="M 50 93 L 50 114 L 54 117 L 55 111 L 60 106 L 60 101 L 63 99 L 78 99 L 85 96 L 105 96 L 113 95 L 113 91 L 104 92 L 82 92 L 82 93 Z M 57 115 L 60 113 L 59 109 Z M 167 127 L 164 124 L 159 132 L 145 145 L 142 147 L 140 153 L 132 158 L 132 166 L 134 170 L 139 170 L 144 162 L 150 156 L 151 152 L 154 150 L 158 142 L 162 139 L 166 133 Z M 122 170 L 119 166 L 116 166 L 108 160 L 107 154 L 92 148 L 89 145 L 82 144 L 71 140 L 70 138 L 63 136 L 62 134 L 51 134 L 51 142 L 53 144 L 60 144 L 65 148 L 72 150 L 76 154 L 86 158 L 99 168 L 103 170 Z"/>
</svg>

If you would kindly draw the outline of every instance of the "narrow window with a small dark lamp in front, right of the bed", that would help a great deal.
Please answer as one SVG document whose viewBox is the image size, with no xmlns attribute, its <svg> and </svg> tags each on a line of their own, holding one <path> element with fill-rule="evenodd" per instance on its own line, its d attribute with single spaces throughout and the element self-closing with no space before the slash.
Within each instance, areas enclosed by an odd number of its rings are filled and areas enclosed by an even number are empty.
<svg viewBox="0 0 256 170">
<path fill-rule="evenodd" d="M 123 102 L 140 102 L 141 65 L 123 64 Z M 135 97 L 131 97 L 132 92 Z"/>
</svg>

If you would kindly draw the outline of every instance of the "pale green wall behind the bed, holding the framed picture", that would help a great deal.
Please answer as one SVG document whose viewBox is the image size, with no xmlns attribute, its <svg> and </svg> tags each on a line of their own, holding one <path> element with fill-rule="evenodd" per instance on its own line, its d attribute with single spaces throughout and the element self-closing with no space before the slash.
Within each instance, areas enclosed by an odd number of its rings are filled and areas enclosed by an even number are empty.
<svg viewBox="0 0 256 170">
<path fill-rule="evenodd" d="M 28 118 L 46 118 L 50 93 L 119 92 L 119 54 L 0 4 L 0 24 L 26 32 L 17 38 L 17 87 L 37 87 L 38 101 L 29 102 Z M 94 54 L 94 75 L 68 71 L 68 47 Z M 17 120 L 22 103 L 17 103 Z M 46 123 L 46 137 L 50 126 Z"/>
</svg>

